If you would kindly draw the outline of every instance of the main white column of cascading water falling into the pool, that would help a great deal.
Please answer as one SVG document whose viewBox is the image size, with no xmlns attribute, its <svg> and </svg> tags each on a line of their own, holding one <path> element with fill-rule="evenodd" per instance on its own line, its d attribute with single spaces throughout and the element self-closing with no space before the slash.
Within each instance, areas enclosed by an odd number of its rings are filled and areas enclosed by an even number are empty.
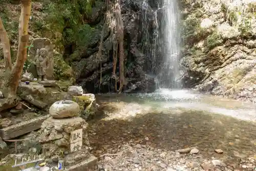
<svg viewBox="0 0 256 171">
<path fill-rule="evenodd" d="M 162 55 L 163 67 L 157 77 L 160 88 L 180 89 L 179 61 L 181 54 L 180 11 L 177 0 L 163 0 Z"/>
</svg>

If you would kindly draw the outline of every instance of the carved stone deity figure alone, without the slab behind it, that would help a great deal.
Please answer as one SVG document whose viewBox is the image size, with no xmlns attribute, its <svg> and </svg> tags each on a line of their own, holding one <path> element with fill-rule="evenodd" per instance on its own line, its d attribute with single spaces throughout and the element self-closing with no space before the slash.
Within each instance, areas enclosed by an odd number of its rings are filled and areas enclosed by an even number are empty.
<svg viewBox="0 0 256 171">
<path fill-rule="evenodd" d="M 46 48 L 36 50 L 35 66 L 38 75 L 38 81 L 46 81 L 47 69 L 49 67 L 49 57 Z"/>
</svg>

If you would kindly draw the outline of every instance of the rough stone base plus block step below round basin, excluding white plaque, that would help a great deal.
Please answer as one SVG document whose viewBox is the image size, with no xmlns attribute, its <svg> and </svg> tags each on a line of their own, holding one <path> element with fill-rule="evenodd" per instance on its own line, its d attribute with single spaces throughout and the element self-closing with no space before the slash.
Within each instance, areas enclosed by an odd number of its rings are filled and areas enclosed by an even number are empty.
<svg viewBox="0 0 256 171">
<path fill-rule="evenodd" d="M 70 152 L 70 133 L 82 129 L 82 150 Z M 40 142 L 46 157 L 64 159 L 65 170 L 97 170 L 97 158 L 89 152 L 88 124 L 81 117 L 48 118 L 42 123 Z"/>
</svg>

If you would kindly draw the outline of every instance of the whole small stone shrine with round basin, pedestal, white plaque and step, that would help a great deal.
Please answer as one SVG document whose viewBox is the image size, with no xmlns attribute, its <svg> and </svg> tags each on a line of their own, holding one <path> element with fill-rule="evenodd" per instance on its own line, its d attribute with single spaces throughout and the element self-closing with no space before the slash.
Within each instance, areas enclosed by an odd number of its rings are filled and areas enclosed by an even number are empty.
<svg viewBox="0 0 256 171">
<path fill-rule="evenodd" d="M 46 157 L 63 159 L 67 170 L 95 170 L 97 158 L 89 152 L 88 124 L 79 117 L 80 108 L 73 101 L 57 101 L 49 110 L 39 131 L 39 142 Z"/>
</svg>

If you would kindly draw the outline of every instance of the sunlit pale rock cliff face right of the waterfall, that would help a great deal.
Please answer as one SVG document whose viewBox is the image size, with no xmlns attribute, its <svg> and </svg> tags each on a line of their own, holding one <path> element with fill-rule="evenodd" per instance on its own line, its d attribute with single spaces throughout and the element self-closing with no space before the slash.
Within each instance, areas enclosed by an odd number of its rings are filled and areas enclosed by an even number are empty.
<svg viewBox="0 0 256 171">
<path fill-rule="evenodd" d="M 183 1 L 185 87 L 256 102 L 255 1 Z"/>
</svg>

